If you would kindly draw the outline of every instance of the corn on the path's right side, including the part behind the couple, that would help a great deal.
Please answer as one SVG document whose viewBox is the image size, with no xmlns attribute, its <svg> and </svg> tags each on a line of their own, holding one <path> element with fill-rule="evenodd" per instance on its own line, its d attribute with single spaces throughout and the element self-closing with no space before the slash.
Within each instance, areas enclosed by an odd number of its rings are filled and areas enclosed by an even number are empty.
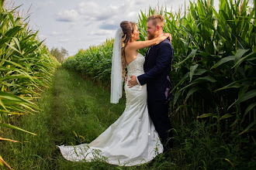
<svg viewBox="0 0 256 170">
<path fill-rule="evenodd" d="M 147 17 L 152 14 L 164 15 L 164 32 L 172 35 L 172 121 L 207 120 L 222 124 L 228 134 L 250 134 L 255 142 L 255 12 L 246 0 L 220 0 L 219 11 L 213 0 L 198 0 L 184 12 L 164 7 L 140 12 L 140 40 L 147 39 Z M 112 40 L 107 40 L 80 50 L 63 66 L 109 86 L 111 57 Z"/>
</svg>

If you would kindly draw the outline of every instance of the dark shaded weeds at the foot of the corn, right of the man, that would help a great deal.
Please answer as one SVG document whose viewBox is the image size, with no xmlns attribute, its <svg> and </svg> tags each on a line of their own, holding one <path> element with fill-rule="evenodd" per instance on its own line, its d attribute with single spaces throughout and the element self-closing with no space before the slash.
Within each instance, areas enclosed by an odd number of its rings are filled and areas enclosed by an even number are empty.
<svg viewBox="0 0 256 170">
<path fill-rule="evenodd" d="M 177 122 L 174 127 L 178 147 L 171 151 L 171 158 L 176 165 L 185 164 L 185 169 L 251 169 L 255 166 L 255 145 L 250 142 L 251 137 L 234 137 L 223 131 L 220 122 L 192 120 Z"/>
</svg>

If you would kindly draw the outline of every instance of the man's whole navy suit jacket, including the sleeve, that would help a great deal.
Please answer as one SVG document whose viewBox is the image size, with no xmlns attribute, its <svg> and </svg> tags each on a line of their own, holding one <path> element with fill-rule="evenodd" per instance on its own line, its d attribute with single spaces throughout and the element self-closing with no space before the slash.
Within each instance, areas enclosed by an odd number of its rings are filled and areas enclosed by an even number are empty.
<svg viewBox="0 0 256 170">
<path fill-rule="evenodd" d="M 173 54 L 174 50 L 168 39 L 147 50 L 144 63 L 145 73 L 137 76 L 141 85 L 147 83 L 147 100 L 170 100 L 170 72 Z"/>
</svg>

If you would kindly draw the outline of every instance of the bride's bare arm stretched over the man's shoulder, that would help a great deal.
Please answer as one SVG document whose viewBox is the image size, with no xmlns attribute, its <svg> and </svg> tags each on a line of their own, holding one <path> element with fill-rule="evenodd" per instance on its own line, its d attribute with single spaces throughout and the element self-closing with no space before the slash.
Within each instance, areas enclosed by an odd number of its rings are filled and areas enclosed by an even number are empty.
<svg viewBox="0 0 256 170">
<path fill-rule="evenodd" d="M 159 44 L 160 42 L 164 41 L 164 39 L 167 39 L 168 37 L 171 37 L 170 33 L 164 33 L 162 36 L 158 36 L 157 38 L 146 40 L 146 41 L 136 41 L 131 42 L 129 44 L 129 49 L 144 49 L 148 46 L 155 46 Z"/>
</svg>

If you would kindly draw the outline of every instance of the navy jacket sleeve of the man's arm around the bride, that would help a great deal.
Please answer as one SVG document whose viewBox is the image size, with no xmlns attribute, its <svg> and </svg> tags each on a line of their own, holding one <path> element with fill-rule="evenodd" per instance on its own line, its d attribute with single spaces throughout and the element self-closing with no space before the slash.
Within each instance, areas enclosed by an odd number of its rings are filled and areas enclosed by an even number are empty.
<svg viewBox="0 0 256 170">
<path fill-rule="evenodd" d="M 150 80 L 154 80 L 155 78 L 157 78 L 157 76 L 161 76 L 163 70 L 171 65 L 171 60 L 173 57 L 173 49 L 171 48 L 171 44 L 167 42 L 161 42 L 159 46 L 161 49 L 158 49 L 159 51 L 156 65 L 147 73 L 137 76 L 140 85 L 144 85 Z"/>
</svg>

